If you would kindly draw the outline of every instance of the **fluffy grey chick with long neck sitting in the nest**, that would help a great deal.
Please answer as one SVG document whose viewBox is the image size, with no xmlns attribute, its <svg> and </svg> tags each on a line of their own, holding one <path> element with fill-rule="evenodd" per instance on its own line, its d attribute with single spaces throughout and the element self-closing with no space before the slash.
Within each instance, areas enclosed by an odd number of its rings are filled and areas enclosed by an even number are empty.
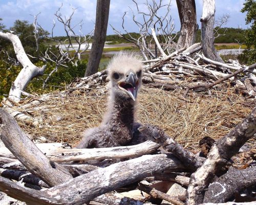
<svg viewBox="0 0 256 205">
<path fill-rule="evenodd" d="M 110 96 L 107 111 L 98 127 L 84 131 L 76 148 L 127 145 L 133 139 L 137 96 L 142 83 L 142 62 L 132 53 L 120 52 L 107 66 Z"/>
</svg>

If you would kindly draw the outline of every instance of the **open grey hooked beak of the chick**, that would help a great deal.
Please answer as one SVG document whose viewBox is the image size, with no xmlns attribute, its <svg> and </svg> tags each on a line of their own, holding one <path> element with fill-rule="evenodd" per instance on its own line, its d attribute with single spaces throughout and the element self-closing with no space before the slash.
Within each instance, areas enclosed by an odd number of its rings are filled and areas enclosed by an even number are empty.
<svg viewBox="0 0 256 205">
<path fill-rule="evenodd" d="M 118 83 L 118 87 L 127 93 L 134 101 L 136 100 L 139 80 L 134 73 L 130 72 L 125 81 Z"/>
</svg>

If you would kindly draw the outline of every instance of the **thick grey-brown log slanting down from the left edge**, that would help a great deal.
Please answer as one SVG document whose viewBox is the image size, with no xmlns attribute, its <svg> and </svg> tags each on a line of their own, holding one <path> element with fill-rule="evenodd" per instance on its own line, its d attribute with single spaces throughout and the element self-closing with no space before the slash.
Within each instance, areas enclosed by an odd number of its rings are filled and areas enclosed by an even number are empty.
<svg viewBox="0 0 256 205">
<path fill-rule="evenodd" d="M 72 178 L 65 168 L 50 161 L 3 109 L 0 109 L 0 126 L 3 143 L 32 174 L 49 186 L 59 185 Z"/>
</svg>

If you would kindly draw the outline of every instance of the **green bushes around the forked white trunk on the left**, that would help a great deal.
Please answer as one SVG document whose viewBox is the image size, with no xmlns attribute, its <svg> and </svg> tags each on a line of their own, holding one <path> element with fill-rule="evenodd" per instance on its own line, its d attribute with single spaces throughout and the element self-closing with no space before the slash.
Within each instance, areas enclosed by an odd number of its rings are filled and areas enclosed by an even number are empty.
<svg viewBox="0 0 256 205">
<path fill-rule="evenodd" d="M 2 20 L 2 19 L 0 19 Z M 0 21 L 0 30 L 6 32 L 4 30 L 5 26 Z M 16 20 L 14 22 L 13 27 L 10 30 L 19 36 L 20 41 L 22 42 L 24 49 L 27 54 L 34 56 L 35 58 L 30 58 L 31 61 L 37 65 L 42 66 L 46 64 L 39 60 L 38 54 L 40 52 L 44 53 L 48 46 L 46 45 L 47 41 L 43 38 L 47 33 L 39 32 L 39 50 L 36 52 L 36 42 L 34 39 L 34 28 L 32 24 L 29 24 L 26 20 Z M 19 64 L 15 64 L 14 61 L 10 59 L 14 59 L 17 62 L 16 55 L 13 49 L 13 46 L 10 42 L 4 39 L 0 39 L 0 100 L 4 95 L 8 95 L 12 82 L 17 77 L 18 73 L 22 69 L 22 66 Z M 55 47 L 51 47 L 51 52 L 58 52 Z M 77 65 L 72 63 L 67 64 L 68 67 L 59 66 L 58 71 L 54 73 L 49 81 L 47 82 L 46 90 L 54 90 L 59 87 L 63 87 L 66 84 L 70 84 L 72 80 L 76 77 L 83 77 L 87 67 L 87 60 L 77 61 Z M 46 92 L 46 90 L 42 89 L 42 82 L 47 78 L 50 72 L 55 68 L 55 64 L 52 62 L 47 63 L 47 68 L 45 74 L 43 76 L 39 76 L 34 78 L 28 85 L 28 92 L 41 94 Z"/>
</svg>

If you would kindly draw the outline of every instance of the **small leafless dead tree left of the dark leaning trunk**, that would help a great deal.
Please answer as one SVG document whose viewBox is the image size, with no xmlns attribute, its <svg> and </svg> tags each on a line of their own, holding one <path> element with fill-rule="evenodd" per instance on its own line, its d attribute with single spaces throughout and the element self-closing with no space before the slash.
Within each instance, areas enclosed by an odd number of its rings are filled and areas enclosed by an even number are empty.
<svg viewBox="0 0 256 205">
<path fill-rule="evenodd" d="M 62 7 L 62 6 L 61 6 Z M 56 21 L 54 21 L 53 28 L 51 31 L 51 37 L 45 36 L 46 39 L 50 40 L 51 42 L 56 43 L 57 45 L 50 45 L 49 48 L 46 50 L 45 53 L 39 54 L 39 59 L 45 62 L 50 62 L 55 65 L 54 69 L 50 72 L 50 74 L 47 76 L 47 78 L 44 80 L 42 87 L 45 88 L 48 80 L 50 77 L 58 71 L 59 66 L 68 67 L 69 63 L 77 64 L 78 60 L 81 60 L 81 55 L 84 54 L 87 49 L 89 48 L 89 41 L 92 37 L 93 31 L 87 35 L 83 34 L 81 32 L 82 30 L 82 20 L 75 26 L 72 26 L 72 19 L 75 14 L 76 9 L 72 8 L 72 13 L 69 16 L 65 16 L 65 18 L 62 17 L 62 14 L 60 12 L 61 7 L 55 12 L 55 16 L 57 18 L 57 22 L 59 22 L 64 27 L 64 31 L 66 33 L 67 38 L 63 41 L 58 40 L 54 38 L 54 28 L 56 26 Z M 36 25 L 36 16 L 35 16 L 35 22 L 34 25 Z M 78 33 L 75 32 L 75 28 L 79 26 Z M 35 33 L 38 33 L 39 30 L 44 31 L 40 26 L 35 26 Z M 36 42 L 38 41 L 38 38 L 35 35 Z M 75 46 L 75 44 L 77 44 Z M 84 48 L 82 49 L 82 45 Z M 57 48 L 57 52 L 54 52 L 53 47 Z M 75 52 L 71 54 L 70 51 L 74 50 Z M 84 68 L 85 69 L 85 68 Z"/>
</svg>

